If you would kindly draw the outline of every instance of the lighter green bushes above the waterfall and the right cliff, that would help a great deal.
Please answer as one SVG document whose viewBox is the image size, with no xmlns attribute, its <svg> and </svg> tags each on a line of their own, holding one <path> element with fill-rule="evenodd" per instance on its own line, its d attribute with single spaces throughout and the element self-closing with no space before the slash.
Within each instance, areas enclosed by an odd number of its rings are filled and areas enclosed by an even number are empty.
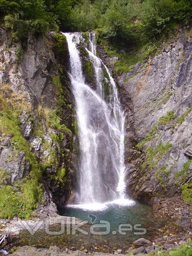
<svg viewBox="0 0 192 256">
<path fill-rule="evenodd" d="M 191 11 L 187 0 L 81 0 L 71 19 L 74 30 L 99 29 L 102 37 L 130 47 L 155 42 L 166 28 L 189 20 Z M 154 50 L 155 46 L 149 49 Z"/>
</svg>

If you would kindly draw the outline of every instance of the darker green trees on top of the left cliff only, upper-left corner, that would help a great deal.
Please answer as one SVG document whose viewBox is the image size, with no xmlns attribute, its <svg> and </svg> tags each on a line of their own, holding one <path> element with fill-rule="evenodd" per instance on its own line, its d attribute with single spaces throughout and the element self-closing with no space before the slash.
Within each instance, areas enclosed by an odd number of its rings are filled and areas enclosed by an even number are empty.
<svg viewBox="0 0 192 256">
<path fill-rule="evenodd" d="M 0 14 L 6 27 L 12 29 L 15 39 L 27 39 L 29 32 L 45 34 L 48 30 L 69 28 L 71 0 L 0 0 Z M 58 24 L 58 25 L 57 25 Z"/>
</svg>

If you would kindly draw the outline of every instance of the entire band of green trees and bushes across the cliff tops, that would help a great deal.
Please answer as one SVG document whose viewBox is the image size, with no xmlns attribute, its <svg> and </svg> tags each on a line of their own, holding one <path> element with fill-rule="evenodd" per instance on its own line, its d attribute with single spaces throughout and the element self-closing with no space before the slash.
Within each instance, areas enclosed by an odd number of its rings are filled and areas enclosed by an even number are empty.
<svg viewBox="0 0 192 256">
<path fill-rule="evenodd" d="M 112 43 L 138 45 L 190 20 L 191 13 L 192 3 L 187 0 L 0 0 L 6 26 L 22 39 L 28 31 L 98 29 Z"/>
</svg>

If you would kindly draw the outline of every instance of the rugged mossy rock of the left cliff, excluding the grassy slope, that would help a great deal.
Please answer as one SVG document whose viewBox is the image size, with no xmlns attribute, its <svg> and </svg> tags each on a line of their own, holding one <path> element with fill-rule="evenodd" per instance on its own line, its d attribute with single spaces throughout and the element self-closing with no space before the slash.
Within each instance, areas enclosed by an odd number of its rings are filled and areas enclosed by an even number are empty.
<svg viewBox="0 0 192 256">
<path fill-rule="evenodd" d="M 25 45 L 12 41 L 11 34 L 0 28 L 1 94 L 15 104 L 25 98 L 18 133 L 43 169 L 44 199 L 51 205 L 63 205 L 70 196 L 76 144 L 67 44 L 63 50 L 57 49 L 57 41 L 49 33 L 38 38 L 29 35 Z M 20 142 L 13 143 L 12 137 L 1 129 L 0 169 L 6 178 L 0 187 L 28 177 L 32 168 Z"/>
</svg>

